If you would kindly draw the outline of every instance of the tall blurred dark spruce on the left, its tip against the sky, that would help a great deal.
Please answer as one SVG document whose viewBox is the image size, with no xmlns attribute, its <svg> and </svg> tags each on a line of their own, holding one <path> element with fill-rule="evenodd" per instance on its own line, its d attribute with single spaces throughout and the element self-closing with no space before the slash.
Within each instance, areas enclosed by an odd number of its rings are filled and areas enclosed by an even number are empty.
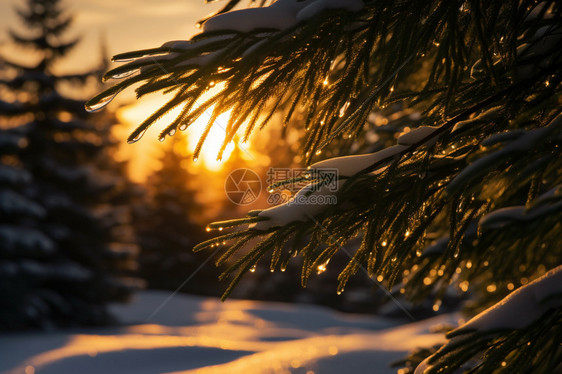
<svg viewBox="0 0 562 374">
<path fill-rule="evenodd" d="M 122 167 L 111 162 L 114 118 L 89 118 L 83 101 L 59 93 L 99 73 L 53 72 L 78 42 L 65 41 L 72 17 L 59 1 L 29 0 L 18 14 L 29 36 L 11 37 L 39 60 L 2 57 L 0 85 L 18 101 L 0 107 L 2 142 L 10 145 L 1 154 L 0 328 L 107 323 L 105 305 L 130 293 L 122 276 L 136 252 L 119 233 L 127 214 L 115 204 L 124 191 Z"/>
</svg>

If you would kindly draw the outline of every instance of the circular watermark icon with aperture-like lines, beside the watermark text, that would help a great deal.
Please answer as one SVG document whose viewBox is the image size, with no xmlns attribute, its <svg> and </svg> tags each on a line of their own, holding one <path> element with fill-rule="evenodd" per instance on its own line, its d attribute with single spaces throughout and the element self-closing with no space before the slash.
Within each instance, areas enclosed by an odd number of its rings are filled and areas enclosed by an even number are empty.
<svg viewBox="0 0 562 374">
<path fill-rule="evenodd" d="M 260 196 L 260 177 L 253 170 L 236 169 L 228 174 L 224 182 L 224 192 L 234 204 L 251 204 Z"/>
</svg>

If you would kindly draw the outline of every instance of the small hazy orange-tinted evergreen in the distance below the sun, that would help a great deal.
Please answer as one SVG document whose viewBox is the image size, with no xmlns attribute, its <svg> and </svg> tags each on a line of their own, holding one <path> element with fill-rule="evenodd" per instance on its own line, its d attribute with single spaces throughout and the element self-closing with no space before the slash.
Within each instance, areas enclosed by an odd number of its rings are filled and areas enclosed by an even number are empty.
<svg viewBox="0 0 562 374">
<path fill-rule="evenodd" d="M 140 247 L 139 276 L 153 289 L 175 290 L 192 274 L 181 291 L 216 295 L 218 275 L 214 267 L 197 271 L 207 259 L 192 248 L 205 238 L 195 217 L 202 206 L 190 186 L 194 175 L 185 167 L 187 142 L 177 136 L 160 159 L 161 168 L 148 179 L 148 201 L 135 207 L 135 230 Z"/>
</svg>

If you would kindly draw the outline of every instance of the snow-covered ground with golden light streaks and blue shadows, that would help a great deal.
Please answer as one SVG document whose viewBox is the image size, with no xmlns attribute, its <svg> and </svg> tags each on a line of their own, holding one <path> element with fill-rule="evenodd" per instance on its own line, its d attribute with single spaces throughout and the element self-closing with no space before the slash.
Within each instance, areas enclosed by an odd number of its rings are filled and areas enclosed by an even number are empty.
<svg viewBox="0 0 562 374">
<path fill-rule="evenodd" d="M 65 373 L 395 373 L 388 363 L 443 341 L 440 316 L 397 321 L 318 306 L 144 291 L 113 306 L 123 327 L 0 337 L 0 372 Z"/>
</svg>

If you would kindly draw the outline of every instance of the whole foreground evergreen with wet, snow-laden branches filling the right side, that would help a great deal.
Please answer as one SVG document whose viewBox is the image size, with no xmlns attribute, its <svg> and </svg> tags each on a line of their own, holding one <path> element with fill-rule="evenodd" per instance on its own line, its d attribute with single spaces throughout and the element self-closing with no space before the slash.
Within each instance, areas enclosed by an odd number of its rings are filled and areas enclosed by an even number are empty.
<svg viewBox="0 0 562 374">
<path fill-rule="evenodd" d="M 237 3 L 190 41 L 116 56 L 133 61 L 106 77 L 129 76 L 88 105 L 136 83 L 139 96 L 174 92 L 130 141 L 174 107 L 181 113 L 162 137 L 211 105 L 213 117 L 230 110 L 223 149 L 277 111 L 290 124 L 303 107 L 310 172 L 301 200 L 211 224 L 239 229 L 195 248 L 227 241 L 221 258 L 243 253 L 222 275 L 233 277 L 225 297 L 258 262 L 283 269 L 299 255 L 306 285 L 343 252 L 338 293 L 366 272 L 412 301 L 433 299 L 436 311 L 446 291 L 466 291 L 471 313 L 480 312 L 402 372 L 559 369 L 560 2 L 279 0 L 231 11 Z M 199 103 L 211 87 L 215 95 Z M 388 125 L 414 124 L 376 126 L 384 108 L 396 110 Z M 313 163 L 330 143 L 388 130 L 377 152 Z M 326 182 L 334 169 L 337 192 Z M 318 202 L 331 197 L 337 204 Z"/>
</svg>

